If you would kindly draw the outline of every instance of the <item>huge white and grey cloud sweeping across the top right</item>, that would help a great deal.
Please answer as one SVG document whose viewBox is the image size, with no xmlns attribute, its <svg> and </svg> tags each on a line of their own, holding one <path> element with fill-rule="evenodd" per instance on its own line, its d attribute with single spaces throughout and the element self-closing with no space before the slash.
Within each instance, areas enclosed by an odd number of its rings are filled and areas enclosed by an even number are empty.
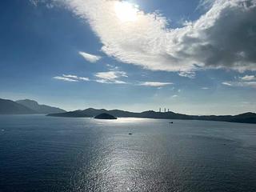
<svg viewBox="0 0 256 192">
<path fill-rule="evenodd" d="M 124 19 L 123 14 L 121 18 L 119 1 L 56 1 L 89 22 L 102 51 L 118 61 L 177 72 L 256 70 L 255 0 L 207 0 L 211 3 L 205 14 L 177 29 L 169 28 L 161 14 L 146 13 L 138 6 L 129 6 L 134 19 Z"/>
</svg>

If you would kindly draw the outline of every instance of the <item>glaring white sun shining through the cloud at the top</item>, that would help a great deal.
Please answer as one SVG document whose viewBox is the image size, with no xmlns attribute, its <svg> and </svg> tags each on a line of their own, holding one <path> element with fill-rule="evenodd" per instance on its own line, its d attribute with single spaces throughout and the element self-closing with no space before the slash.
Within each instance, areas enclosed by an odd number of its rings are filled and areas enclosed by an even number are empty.
<svg viewBox="0 0 256 192">
<path fill-rule="evenodd" d="M 115 2 L 114 10 L 122 22 L 134 22 L 138 19 L 138 6 L 130 2 Z"/>
</svg>

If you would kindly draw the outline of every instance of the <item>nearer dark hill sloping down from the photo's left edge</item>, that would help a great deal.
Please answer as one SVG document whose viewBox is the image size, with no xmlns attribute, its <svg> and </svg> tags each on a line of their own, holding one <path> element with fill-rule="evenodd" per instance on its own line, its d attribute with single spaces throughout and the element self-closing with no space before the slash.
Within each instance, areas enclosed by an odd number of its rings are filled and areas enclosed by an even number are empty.
<svg viewBox="0 0 256 192">
<path fill-rule="evenodd" d="M 35 114 L 36 111 L 17 102 L 0 98 L 0 114 Z"/>
</svg>

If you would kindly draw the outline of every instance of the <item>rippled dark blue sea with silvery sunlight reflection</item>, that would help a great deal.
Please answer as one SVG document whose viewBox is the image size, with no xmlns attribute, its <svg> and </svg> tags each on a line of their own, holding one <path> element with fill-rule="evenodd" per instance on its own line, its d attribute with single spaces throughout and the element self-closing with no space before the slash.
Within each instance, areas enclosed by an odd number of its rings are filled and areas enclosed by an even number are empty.
<svg viewBox="0 0 256 192">
<path fill-rule="evenodd" d="M 169 122 L 2 115 L 0 191 L 256 191 L 255 125 Z"/>
</svg>

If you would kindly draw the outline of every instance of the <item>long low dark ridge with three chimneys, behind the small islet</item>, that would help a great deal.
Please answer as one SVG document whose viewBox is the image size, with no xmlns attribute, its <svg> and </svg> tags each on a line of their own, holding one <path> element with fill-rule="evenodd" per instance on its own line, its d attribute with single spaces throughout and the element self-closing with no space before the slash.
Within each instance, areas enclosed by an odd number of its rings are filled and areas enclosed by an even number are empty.
<svg viewBox="0 0 256 192">
<path fill-rule="evenodd" d="M 98 114 L 111 114 L 118 118 L 162 118 L 162 119 L 187 119 L 187 120 L 205 120 L 205 121 L 220 121 L 220 122 L 243 122 L 256 123 L 256 114 L 245 113 L 238 115 L 187 115 L 176 114 L 174 112 L 155 112 L 154 110 L 144 111 L 142 113 L 134 113 L 124 110 L 96 110 L 88 108 L 86 110 L 74 110 L 66 113 L 48 114 L 52 117 L 69 117 L 69 118 L 93 118 Z"/>
</svg>

